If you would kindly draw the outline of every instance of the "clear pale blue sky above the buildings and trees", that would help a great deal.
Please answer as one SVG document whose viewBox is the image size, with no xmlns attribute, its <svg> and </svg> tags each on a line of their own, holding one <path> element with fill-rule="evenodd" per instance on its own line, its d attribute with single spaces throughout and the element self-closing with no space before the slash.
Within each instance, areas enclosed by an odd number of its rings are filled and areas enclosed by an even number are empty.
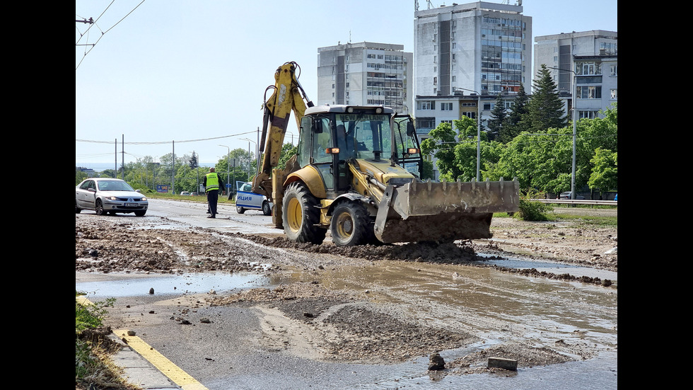
<svg viewBox="0 0 693 390">
<path fill-rule="evenodd" d="M 81 38 L 87 25 L 75 23 L 75 42 L 98 40 L 75 51 L 77 166 L 113 168 L 115 139 L 120 165 L 123 136 L 126 162 L 168 154 L 173 140 L 177 156 L 195 151 L 202 164 L 215 164 L 226 147 L 248 149 L 241 138 L 255 141 L 264 89 L 284 62 L 298 62 L 301 84 L 316 100 L 318 47 L 351 40 L 414 50 L 413 0 L 110 3 L 76 0 L 76 19 L 98 18 Z M 525 0 L 523 8 L 535 36 L 618 30 L 617 0 Z"/>
</svg>

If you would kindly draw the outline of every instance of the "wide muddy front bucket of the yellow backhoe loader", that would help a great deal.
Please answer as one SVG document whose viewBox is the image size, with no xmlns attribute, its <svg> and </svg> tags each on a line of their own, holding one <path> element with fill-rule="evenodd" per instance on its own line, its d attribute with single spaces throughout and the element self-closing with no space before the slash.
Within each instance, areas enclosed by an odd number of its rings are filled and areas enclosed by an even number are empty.
<svg viewBox="0 0 693 390">
<path fill-rule="evenodd" d="M 513 181 L 388 185 L 378 205 L 375 236 L 384 243 L 491 238 L 494 212 L 518 210 Z"/>
</svg>

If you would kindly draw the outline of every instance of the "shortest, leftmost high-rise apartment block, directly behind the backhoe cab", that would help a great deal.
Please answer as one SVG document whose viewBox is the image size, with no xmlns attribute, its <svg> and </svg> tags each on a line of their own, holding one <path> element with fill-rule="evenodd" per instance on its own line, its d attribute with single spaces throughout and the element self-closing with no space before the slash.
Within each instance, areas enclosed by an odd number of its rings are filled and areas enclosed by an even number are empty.
<svg viewBox="0 0 693 390">
<path fill-rule="evenodd" d="M 386 105 L 413 113 L 412 53 L 404 45 L 359 42 L 318 47 L 320 104 Z"/>
</svg>

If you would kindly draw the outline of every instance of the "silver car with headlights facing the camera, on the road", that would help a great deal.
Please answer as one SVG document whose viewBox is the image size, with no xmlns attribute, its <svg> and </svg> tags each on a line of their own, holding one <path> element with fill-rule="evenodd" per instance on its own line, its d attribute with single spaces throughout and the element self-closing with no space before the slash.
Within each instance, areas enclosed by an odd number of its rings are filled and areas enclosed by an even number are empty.
<svg viewBox="0 0 693 390">
<path fill-rule="evenodd" d="M 143 217 L 148 206 L 144 195 L 120 179 L 88 178 L 74 190 L 75 214 L 94 210 L 98 215 L 134 212 L 137 217 Z"/>
</svg>

